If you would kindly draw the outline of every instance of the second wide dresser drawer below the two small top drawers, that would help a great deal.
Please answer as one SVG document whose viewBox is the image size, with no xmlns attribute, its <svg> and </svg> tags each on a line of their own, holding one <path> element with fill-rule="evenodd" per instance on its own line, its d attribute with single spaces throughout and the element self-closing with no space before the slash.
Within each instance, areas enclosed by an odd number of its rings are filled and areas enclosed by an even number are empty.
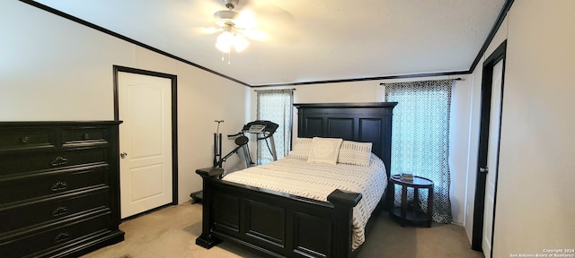
<svg viewBox="0 0 575 258">
<path fill-rule="evenodd" d="M 109 173 L 108 165 L 100 165 L 91 169 L 68 169 L 4 180 L 0 182 L 0 206 L 53 194 L 70 193 L 91 186 L 109 185 Z"/>
</svg>

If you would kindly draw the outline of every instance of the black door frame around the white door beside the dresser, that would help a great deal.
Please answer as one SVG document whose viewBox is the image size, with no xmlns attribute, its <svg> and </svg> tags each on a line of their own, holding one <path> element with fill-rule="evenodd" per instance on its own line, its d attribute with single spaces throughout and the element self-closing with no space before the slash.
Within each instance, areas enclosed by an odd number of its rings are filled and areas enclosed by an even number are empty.
<svg viewBox="0 0 575 258">
<path fill-rule="evenodd" d="M 172 81 L 172 202 L 178 204 L 178 76 L 158 73 L 137 68 L 113 65 L 114 74 L 114 120 L 119 121 L 118 73 L 137 73 L 170 79 Z M 121 191 L 121 189 L 120 189 Z"/>
</svg>

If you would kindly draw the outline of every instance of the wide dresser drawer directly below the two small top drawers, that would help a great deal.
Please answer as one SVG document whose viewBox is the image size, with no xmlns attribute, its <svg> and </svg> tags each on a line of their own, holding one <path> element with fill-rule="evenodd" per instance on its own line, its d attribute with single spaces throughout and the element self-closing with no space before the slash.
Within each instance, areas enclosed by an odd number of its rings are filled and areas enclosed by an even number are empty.
<svg viewBox="0 0 575 258">
<path fill-rule="evenodd" d="M 103 148 L 3 155 L 0 157 L 0 176 L 105 162 L 106 155 Z"/>
</svg>

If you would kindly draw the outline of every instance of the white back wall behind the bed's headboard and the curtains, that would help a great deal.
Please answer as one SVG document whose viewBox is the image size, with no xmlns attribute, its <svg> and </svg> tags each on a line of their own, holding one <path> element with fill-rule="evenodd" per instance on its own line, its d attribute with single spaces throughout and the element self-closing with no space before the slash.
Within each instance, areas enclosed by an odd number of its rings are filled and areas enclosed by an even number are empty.
<svg viewBox="0 0 575 258">
<path fill-rule="evenodd" d="M 442 80 L 461 77 L 456 81 L 452 91 L 452 113 L 450 127 L 450 170 L 451 170 L 451 202 L 454 223 L 464 224 L 465 187 L 467 179 L 467 144 L 469 132 L 469 109 L 471 99 L 471 82 L 469 75 L 437 76 L 411 79 L 394 79 L 364 82 L 340 82 L 323 84 L 306 84 L 291 87 L 266 87 L 257 90 L 274 90 L 293 88 L 294 103 L 338 103 L 338 102 L 380 102 L 385 101 L 385 86 L 382 82 L 412 82 L 424 80 Z M 252 120 L 256 117 L 256 92 L 252 90 Z M 294 109 L 296 120 L 297 110 Z M 296 137 L 297 121 L 294 121 L 293 137 Z"/>
</svg>

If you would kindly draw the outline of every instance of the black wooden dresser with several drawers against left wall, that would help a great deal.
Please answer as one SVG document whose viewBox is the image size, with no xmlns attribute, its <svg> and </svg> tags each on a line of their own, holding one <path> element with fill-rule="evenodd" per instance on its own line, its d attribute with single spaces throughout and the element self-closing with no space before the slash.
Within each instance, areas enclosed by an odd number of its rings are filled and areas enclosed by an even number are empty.
<svg viewBox="0 0 575 258">
<path fill-rule="evenodd" d="M 124 240 L 120 123 L 0 122 L 0 257 L 77 257 Z"/>
</svg>

